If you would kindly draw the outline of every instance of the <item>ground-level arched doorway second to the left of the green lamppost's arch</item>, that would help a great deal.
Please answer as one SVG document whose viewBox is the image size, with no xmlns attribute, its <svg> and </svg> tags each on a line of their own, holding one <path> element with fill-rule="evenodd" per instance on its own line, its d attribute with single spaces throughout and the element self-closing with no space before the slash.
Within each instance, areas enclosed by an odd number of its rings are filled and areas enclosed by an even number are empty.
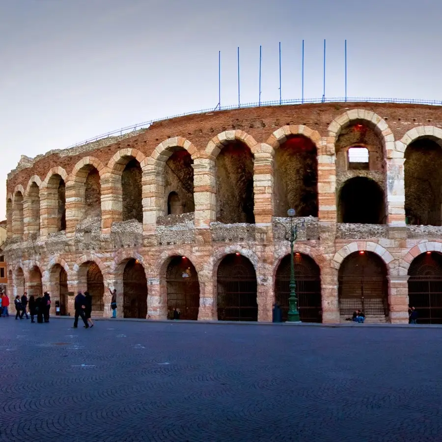
<svg viewBox="0 0 442 442">
<path fill-rule="evenodd" d="M 199 282 L 192 262 L 185 256 L 175 256 L 167 266 L 167 319 L 180 309 L 180 319 L 198 319 Z"/>
</svg>

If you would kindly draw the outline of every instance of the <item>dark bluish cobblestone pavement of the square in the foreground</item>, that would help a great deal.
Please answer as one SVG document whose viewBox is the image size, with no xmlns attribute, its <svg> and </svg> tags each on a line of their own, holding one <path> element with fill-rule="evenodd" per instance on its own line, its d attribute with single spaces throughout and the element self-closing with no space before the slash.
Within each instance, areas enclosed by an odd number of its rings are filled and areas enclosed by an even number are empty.
<svg viewBox="0 0 442 442">
<path fill-rule="evenodd" d="M 441 329 L 0 319 L 0 441 L 441 441 Z"/>
</svg>

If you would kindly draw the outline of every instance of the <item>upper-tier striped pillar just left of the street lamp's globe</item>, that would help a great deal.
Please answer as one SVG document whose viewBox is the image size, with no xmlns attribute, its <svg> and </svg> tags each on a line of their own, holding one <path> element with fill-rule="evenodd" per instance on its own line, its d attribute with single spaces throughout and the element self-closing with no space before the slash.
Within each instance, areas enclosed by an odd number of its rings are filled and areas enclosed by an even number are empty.
<svg viewBox="0 0 442 442">
<path fill-rule="evenodd" d="M 261 145 L 261 151 L 254 154 L 253 194 L 255 224 L 271 223 L 273 207 L 273 149 L 267 144 Z"/>
</svg>

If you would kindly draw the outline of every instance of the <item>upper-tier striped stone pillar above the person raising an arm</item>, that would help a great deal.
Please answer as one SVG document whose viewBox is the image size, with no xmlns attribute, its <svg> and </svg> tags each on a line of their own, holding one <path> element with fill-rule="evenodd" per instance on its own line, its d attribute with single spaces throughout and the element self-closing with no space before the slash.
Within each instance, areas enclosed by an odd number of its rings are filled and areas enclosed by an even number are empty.
<svg viewBox="0 0 442 442">
<path fill-rule="evenodd" d="M 101 176 L 101 229 L 103 234 L 111 233 L 114 221 L 123 220 L 123 189 L 121 174 L 115 171 Z"/>
</svg>

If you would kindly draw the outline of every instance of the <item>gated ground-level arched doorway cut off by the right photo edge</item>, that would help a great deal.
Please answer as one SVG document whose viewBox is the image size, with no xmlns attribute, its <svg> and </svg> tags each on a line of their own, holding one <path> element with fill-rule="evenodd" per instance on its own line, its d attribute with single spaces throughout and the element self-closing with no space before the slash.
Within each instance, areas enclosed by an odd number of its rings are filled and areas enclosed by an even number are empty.
<svg viewBox="0 0 442 442">
<path fill-rule="evenodd" d="M 442 255 L 416 256 L 408 269 L 408 296 L 421 324 L 442 324 Z"/>
</svg>

